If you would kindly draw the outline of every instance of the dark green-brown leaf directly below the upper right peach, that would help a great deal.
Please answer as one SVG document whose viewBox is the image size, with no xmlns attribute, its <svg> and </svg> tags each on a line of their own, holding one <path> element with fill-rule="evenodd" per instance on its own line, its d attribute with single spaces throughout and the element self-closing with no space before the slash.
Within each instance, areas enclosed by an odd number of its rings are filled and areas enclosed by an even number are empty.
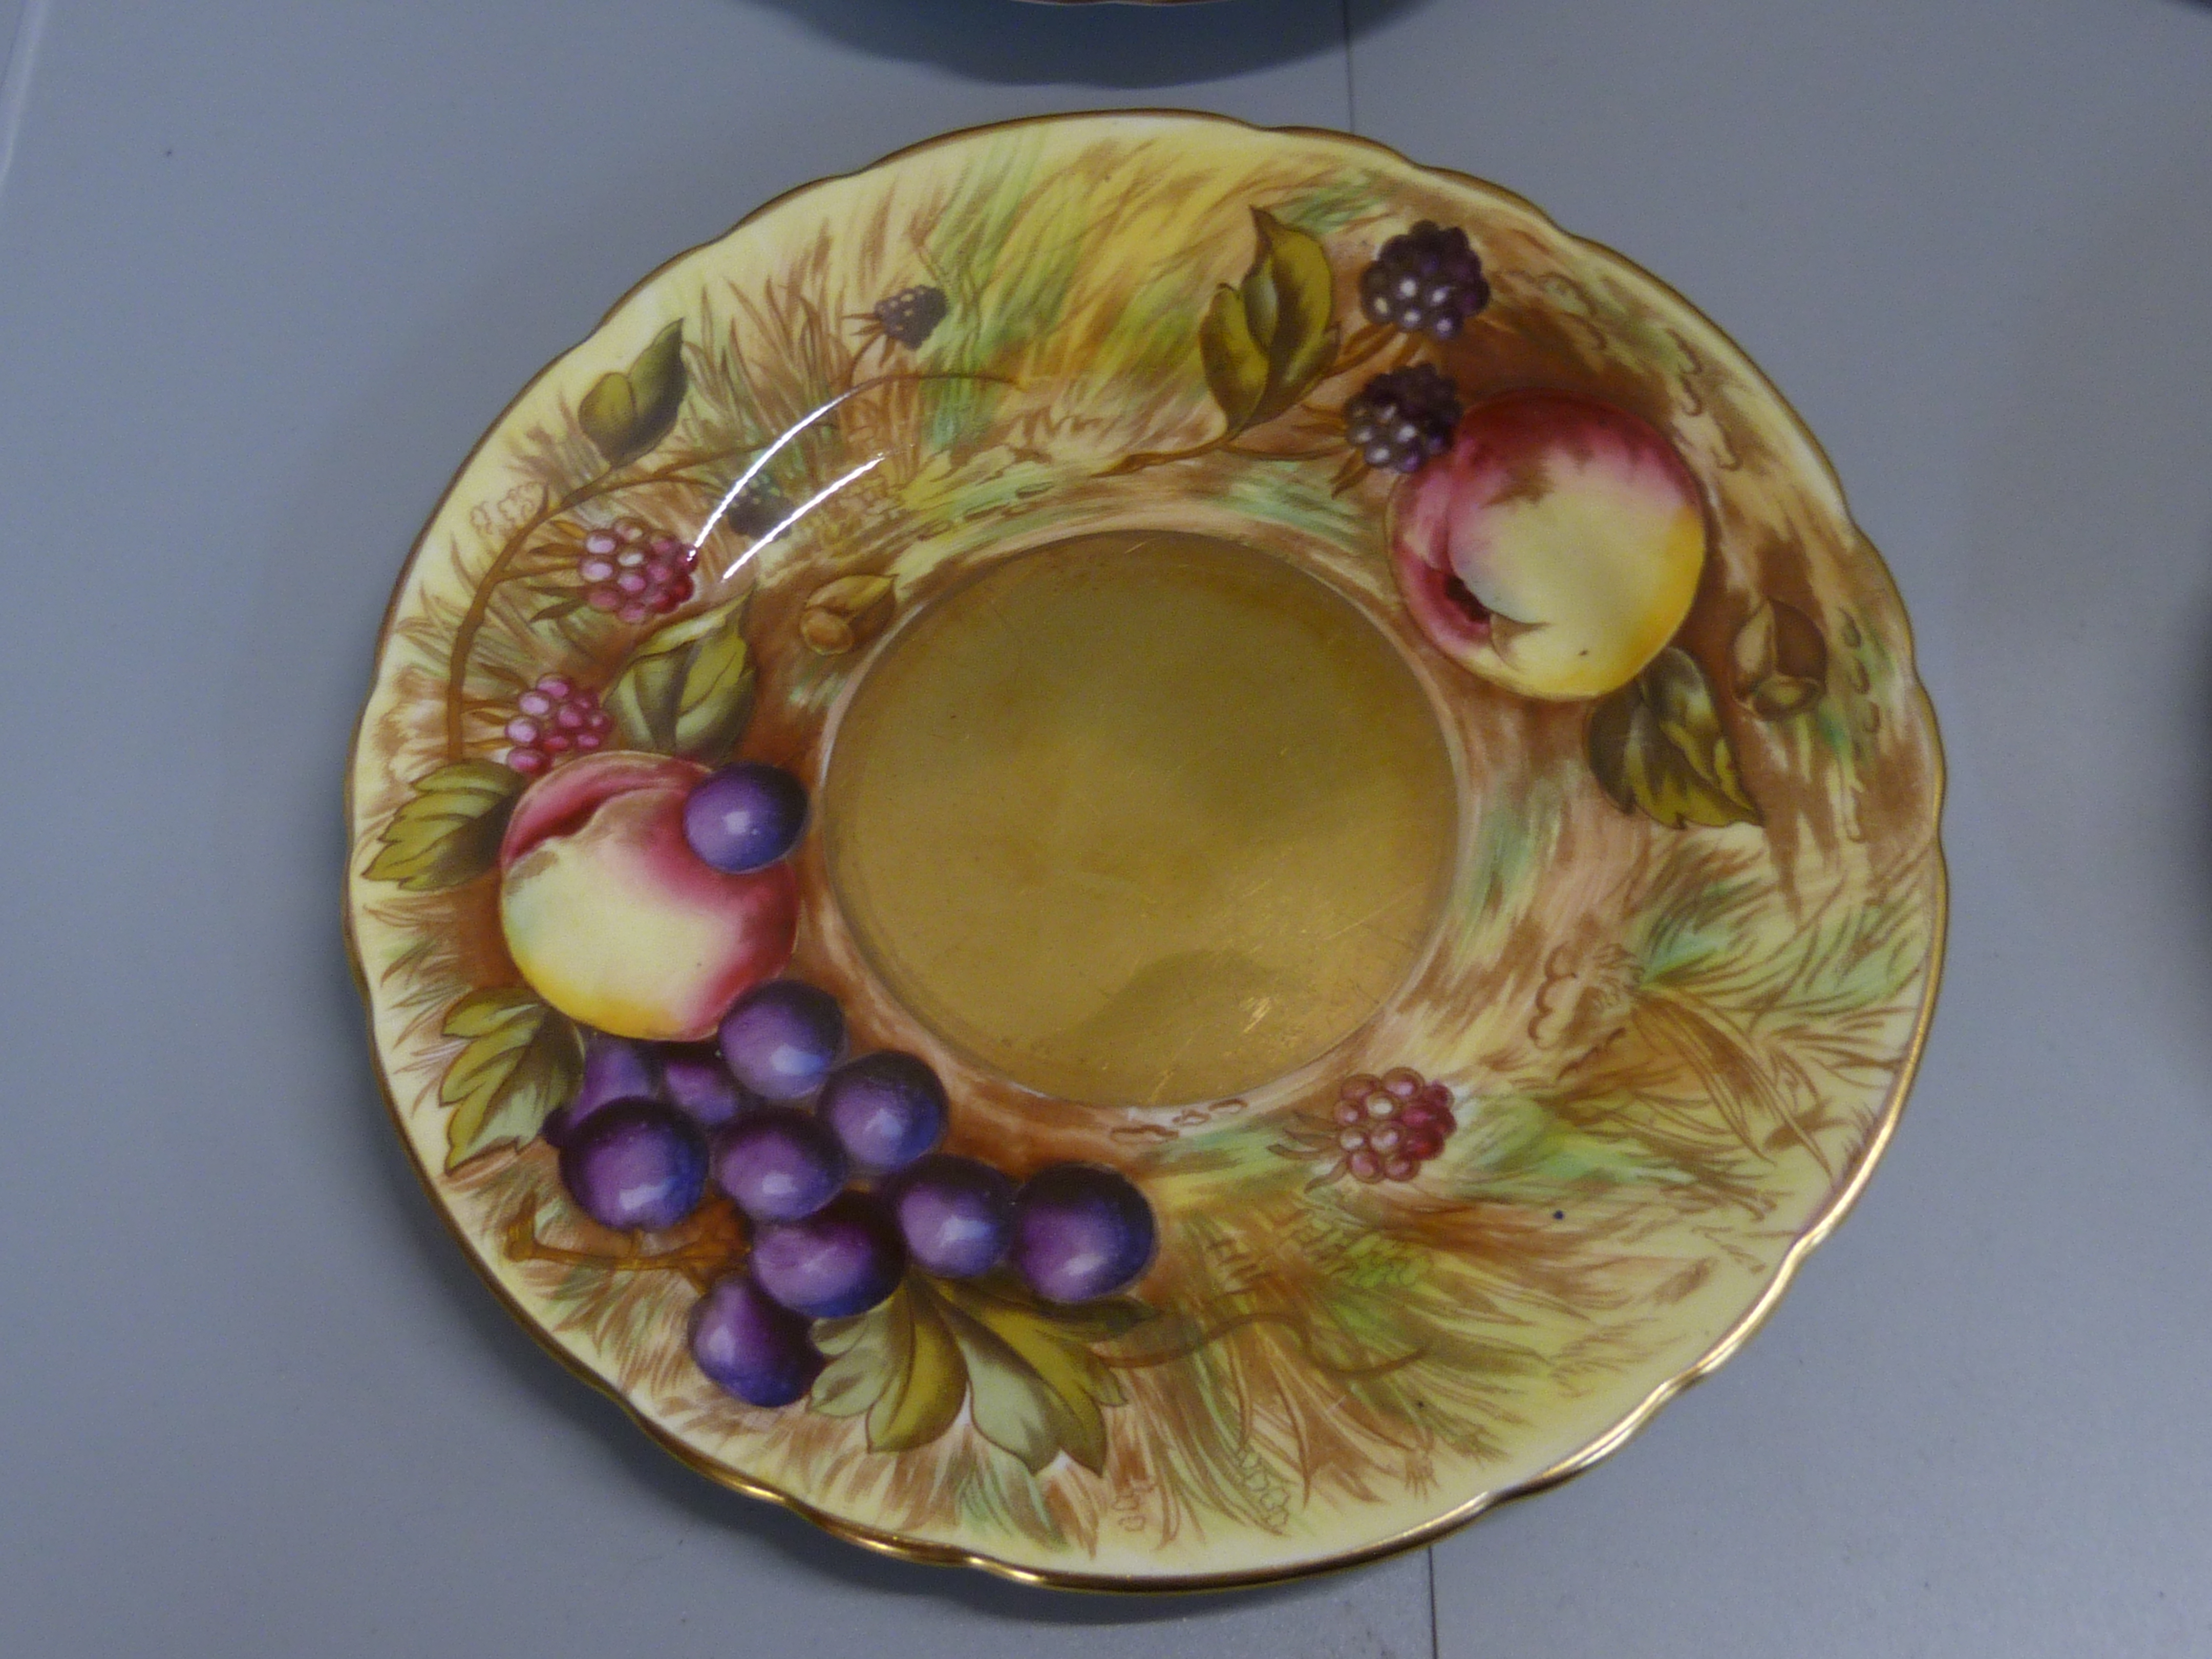
<svg viewBox="0 0 2212 1659">
<path fill-rule="evenodd" d="M 1621 812 L 1679 830 L 1759 823 L 1697 659 L 1668 646 L 1590 710 L 1590 770 Z"/>
</svg>

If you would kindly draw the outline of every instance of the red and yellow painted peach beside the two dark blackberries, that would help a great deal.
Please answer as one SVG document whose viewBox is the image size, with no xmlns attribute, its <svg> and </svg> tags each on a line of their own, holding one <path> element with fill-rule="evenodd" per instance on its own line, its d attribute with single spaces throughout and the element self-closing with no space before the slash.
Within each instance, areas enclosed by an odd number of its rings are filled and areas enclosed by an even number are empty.
<svg viewBox="0 0 2212 1659">
<path fill-rule="evenodd" d="M 1626 686 L 1690 615 L 1705 511 L 1674 447 L 1626 409 L 1506 392 L 1398 493 L 1398 591 L 1429 641 L 1524 697 Z"/>
</svg>

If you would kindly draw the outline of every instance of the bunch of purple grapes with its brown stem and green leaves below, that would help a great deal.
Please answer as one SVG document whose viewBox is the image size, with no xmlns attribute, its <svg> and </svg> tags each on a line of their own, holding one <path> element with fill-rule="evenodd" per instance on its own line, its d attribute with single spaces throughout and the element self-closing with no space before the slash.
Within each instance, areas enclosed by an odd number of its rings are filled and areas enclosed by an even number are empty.
<svg viewBox="0 0 2212 1659">
<path fill-rule="evenodd" d="M 781 823 L 787 803 L 757 816 Z M 938 1150 L 936 1073 L 900 1051 L 847 1057 L 847 1035 L 827 993 L 787 978 L 739 998 L 710 1044 L 593 1035 L 542 1133 L 577 1210 L 624 1243 L 546 1243 L 533 1203 L 507 1254 L 681 1274 L 701 1292 L 690 1356 L 745 1405 L 865 1416 L 874 1451 L 902 1451 L 971 1402 L 1031 1471 L 1062 1451 L 1097 1471 L 1121 1391 L 1093 1345 L 1150 1316 L 1124 1294 L 1152 1261 L 1150 1206 L 1102 1166 L 1018 1186 Z"/>
</svg>

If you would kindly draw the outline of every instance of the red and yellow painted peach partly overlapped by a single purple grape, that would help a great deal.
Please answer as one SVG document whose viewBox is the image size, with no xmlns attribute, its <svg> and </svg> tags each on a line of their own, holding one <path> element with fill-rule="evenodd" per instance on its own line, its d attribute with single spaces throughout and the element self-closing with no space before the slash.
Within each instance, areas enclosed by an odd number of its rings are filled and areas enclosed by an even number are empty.
<svg viewBox="0 0 2212 1659">
<path fill-rule="evenodd" d="M 573 1020 L 697 1042 L 790 960 L 790 865 L 726 876 L 684 838 L 684 799 L 703 776 L 661 754 L 586 754 L 515 803 L 500 843 L 500 927 L 522 978 Z"/>
</svg>

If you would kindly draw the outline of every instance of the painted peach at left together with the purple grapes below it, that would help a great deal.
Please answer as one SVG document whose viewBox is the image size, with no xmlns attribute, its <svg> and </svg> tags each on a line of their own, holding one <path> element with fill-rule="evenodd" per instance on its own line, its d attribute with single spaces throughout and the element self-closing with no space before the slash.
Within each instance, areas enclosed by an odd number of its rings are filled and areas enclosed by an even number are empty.
<svg viewBox="0 0 2212 1659">
<path fill-rule="evenodd" d="M 964 1352 L 1000 1365 L 1004 1343 L 1066 1340 L 1055 1321 L 1139 1318 L 1121 1292 L 1150 1270 L 1159 1228 L 1117 1170 L 1053 1164 L 1015 1183 L 938 1152 L 951 1102 L 929 1062 L 849 1057 L 838 1000 L 781 973 L 799 916 L 785 858 L 805 823 L 805 787 L 774 765 L 564 759 L 513 805 L 500 920 L 531 989 L 588 1026 L 540 1139 L 575 1208 L 637 1239 L 613 1259 L 692 1276 L 692 1363 L 752 1407 L 810 1398 L 832 1365 L 823 1343 L 854 1340 L 856 1321 L 938 1332 L 927 1411 L 872 1431 L 898 1449 L 949 1427 Z M 509 1252 L 597 1261 L 542 1243 L 533 1219 Z M 818 1405 L 852 1391 L 832 1378 Z M 1018 1455 L 1104 1455 L 1084 1407 L 1040 1411 L 1057 1427 Z"/>
</svg>

